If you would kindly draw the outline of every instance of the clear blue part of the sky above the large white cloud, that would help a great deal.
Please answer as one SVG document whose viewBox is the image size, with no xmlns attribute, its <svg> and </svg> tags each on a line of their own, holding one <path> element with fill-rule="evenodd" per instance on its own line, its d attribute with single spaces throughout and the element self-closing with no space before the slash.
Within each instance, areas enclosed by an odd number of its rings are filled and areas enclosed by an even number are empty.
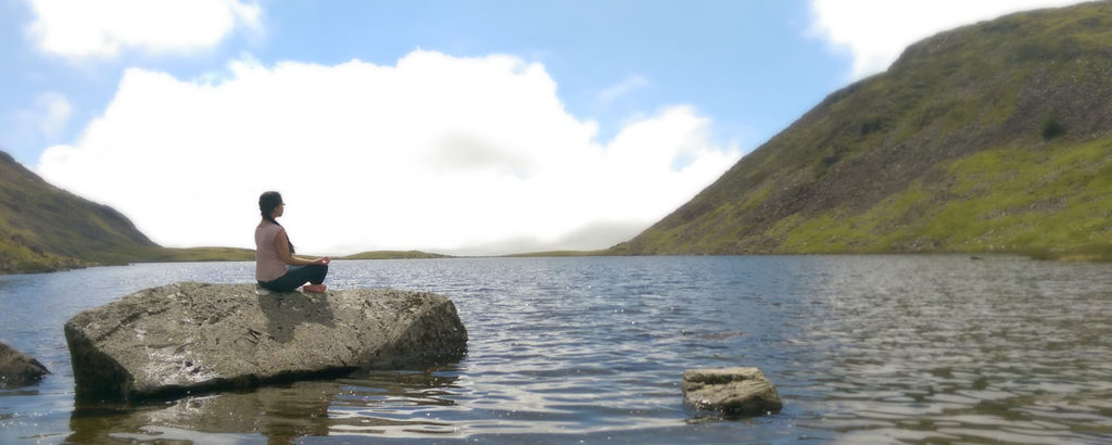
<svg viewBox="0 0 1112 445">
<path fill-rule="evenodd" d="M 0 57 L 16 69 L 0 72 L 0 88 L 11 99 L 3 105 L 8 119 L 0 142 L 33 165 L 44 146 L 80 131 L 79 123 L 71 125 L 50 138 L 12 128 L 21 122 L 10 116 L 33 108 L 44 91 L 66 95 L 75 107 L 72 120 L 80 122 L 103 110 L 128 67 L 193 78 L 244 53 L 267 65 L 351 59 L 391 65 L 415 49 L 516 55 L 544 63 L 569 111 L 598 119 L 603 137 L 638 112 L 697 103 L 715 117 L 717 136 L 746 139 L 747 146 L 767 139 L 848 79 L 850 55 L 807 37 L 811 10 L 803 1 L 696 1 L 683 8 L 672 1 L 259 4 L 264 30 L 236 30 L 214 48 L 186 55 L 125 49 L 120 57 L 69 60 L 34 51 L 24 31 L 32 11 L 22 1 L 4 0 Z M 612 89 L 625 93 L 610 98 L 605 92 Z"/>
</svg>

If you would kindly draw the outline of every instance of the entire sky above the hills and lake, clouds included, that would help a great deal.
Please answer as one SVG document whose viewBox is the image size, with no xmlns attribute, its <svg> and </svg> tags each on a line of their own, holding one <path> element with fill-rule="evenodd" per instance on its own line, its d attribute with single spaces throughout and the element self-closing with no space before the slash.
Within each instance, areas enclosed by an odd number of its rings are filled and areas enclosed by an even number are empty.
<svg viewBox="0 0 1112 445">
<path fill-rule="evenodd" d="M 278 189 L 312 253 L 603 248 L 906 44 L 1073 2 L 0 0 L 0 147 L 167 246 L 252 247 Z"/>
</svg>

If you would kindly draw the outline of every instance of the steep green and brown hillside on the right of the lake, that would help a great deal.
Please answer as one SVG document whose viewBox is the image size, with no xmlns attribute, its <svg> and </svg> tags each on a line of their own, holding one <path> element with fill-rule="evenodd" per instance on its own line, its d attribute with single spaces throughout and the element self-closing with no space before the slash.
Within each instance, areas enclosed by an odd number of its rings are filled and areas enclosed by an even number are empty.
<svg viewBox="0 0 1112 445">
<path fill-rule="evenodd" d="M 613 254 L 1112 245 L 1112 3 L 909 47 Z"/>
</svg>

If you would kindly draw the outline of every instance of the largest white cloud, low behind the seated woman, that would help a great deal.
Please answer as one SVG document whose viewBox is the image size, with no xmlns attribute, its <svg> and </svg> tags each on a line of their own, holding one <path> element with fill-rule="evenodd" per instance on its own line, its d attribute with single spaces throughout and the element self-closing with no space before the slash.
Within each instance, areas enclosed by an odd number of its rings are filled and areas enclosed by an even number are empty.
<svg viewBox="0 0 1112 445">
<path fill-rule="evenodd" d="M 602 248 L 636 235 L 739 157 L 673 107 L 599 144 L 538 63 L 415 51 L 397 66 L 231 63 L 224 80 L 128 70 L 48 180 L 158 243 L 254 247 L 282 192 L 301 251 L 490 254 Z M 209 77 L 209 79 L 212 79 Z"/>
</svg>

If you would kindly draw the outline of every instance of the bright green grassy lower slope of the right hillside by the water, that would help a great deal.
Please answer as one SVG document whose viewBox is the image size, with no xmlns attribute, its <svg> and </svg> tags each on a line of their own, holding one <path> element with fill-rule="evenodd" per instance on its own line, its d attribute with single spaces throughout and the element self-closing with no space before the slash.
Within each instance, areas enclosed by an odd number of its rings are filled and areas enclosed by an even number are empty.
<svg viewBox="0 0 1112 445">
<path fill-rule="evenodd" d="M 801 253 L 1112 245 L 1112 138 L 1051 150 L 991 149 L 946 171 L 944 180 L 915 182 L 864 212 L 785 218 L 772 230 L 784 231 L 785 249 Z"/>
</svg>

